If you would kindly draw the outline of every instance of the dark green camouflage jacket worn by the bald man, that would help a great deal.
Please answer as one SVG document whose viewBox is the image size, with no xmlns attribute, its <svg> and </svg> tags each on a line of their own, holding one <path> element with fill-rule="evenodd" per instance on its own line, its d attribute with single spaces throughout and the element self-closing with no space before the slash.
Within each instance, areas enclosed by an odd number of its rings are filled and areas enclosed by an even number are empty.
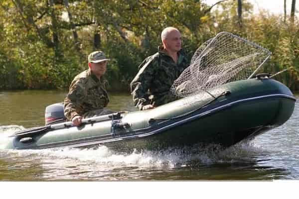
<svg viewBox="0 0 299 199">
<path fill-rule="evenodd" d="M 188 60 L 181 49 L 177 64 L 159 47 L 158 52 L 146 58 L 131 82 L 134 104 L 142 110 L 147 104 L 159 106 L 177 98 L 169 91 L 174 80 L 188 67 Z"/>
</svg>

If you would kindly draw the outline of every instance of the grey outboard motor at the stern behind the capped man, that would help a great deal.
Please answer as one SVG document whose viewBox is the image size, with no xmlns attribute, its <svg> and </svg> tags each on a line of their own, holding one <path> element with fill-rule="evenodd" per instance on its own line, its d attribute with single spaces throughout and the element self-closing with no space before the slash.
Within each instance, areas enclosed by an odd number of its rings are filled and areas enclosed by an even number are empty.
<svg viewBox="0 0 299 199">
<path fill-rule="evenodd" d="M 63 103 L 48 105 L 45 110 L 45 125 L 65 122 L 66 117 L 63 113 Z"/>
</svg>

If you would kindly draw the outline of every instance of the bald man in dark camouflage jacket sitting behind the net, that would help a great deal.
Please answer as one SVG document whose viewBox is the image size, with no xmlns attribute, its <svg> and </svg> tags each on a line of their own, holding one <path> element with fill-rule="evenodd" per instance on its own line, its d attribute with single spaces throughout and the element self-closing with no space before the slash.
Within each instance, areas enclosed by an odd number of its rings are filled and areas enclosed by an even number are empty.
<svg viewBox="0 0 299 199">
<path fill-rule="evenodd" d="M 165 28 L 161 33 L 161 41 L 163 45 L 158 47 L 158 52 L 143 61 L 131 82 L 133 102 L 140 110 L 177 100 L 170 88 L 189 64 L 181 49 L 178 29 Z"/>
</svg>

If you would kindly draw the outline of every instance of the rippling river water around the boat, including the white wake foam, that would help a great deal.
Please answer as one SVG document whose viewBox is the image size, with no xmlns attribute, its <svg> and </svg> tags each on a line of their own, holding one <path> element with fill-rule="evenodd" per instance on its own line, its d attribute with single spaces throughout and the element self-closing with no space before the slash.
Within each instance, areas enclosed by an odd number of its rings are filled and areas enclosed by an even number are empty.
<svg viewBox="0 0 299 199">
<path fill-rule="evenodd" d="M 0 139 L 44 125 L 44 109 L 66 92 L 0 93 Z M 129 94 L 110 94 L 109 108 L 134 111 Z M 120 153 L 96 149 L 0 150 L 0 181 L 299 180 L 299 104 L 282 126 L 226 150 L 169 148 Z"/>
</svg>

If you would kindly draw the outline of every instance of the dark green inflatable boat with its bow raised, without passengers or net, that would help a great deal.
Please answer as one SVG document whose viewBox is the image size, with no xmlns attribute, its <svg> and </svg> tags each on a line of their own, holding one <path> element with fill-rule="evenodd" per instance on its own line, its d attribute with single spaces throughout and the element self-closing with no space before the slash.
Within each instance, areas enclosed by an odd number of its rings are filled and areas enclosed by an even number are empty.
<svg viewBox="0 0 299 199">
<path fill-rule="evenodd" d="M 1 148 L 107 145 L 127 150 L 194 144 L 228 147 L 284 124 L 293 113 L 295 101 L 284 84 L 267 75 L 257 75 L 153 109 L 86 118 L 80 126 L 59 122 L 63 118 L 58 118 L 57 113 L 63 109 L 54 104 L 58 110 L 46 113 L 47 125 L 15 132 L 1 141 Z"/>
</svg>

